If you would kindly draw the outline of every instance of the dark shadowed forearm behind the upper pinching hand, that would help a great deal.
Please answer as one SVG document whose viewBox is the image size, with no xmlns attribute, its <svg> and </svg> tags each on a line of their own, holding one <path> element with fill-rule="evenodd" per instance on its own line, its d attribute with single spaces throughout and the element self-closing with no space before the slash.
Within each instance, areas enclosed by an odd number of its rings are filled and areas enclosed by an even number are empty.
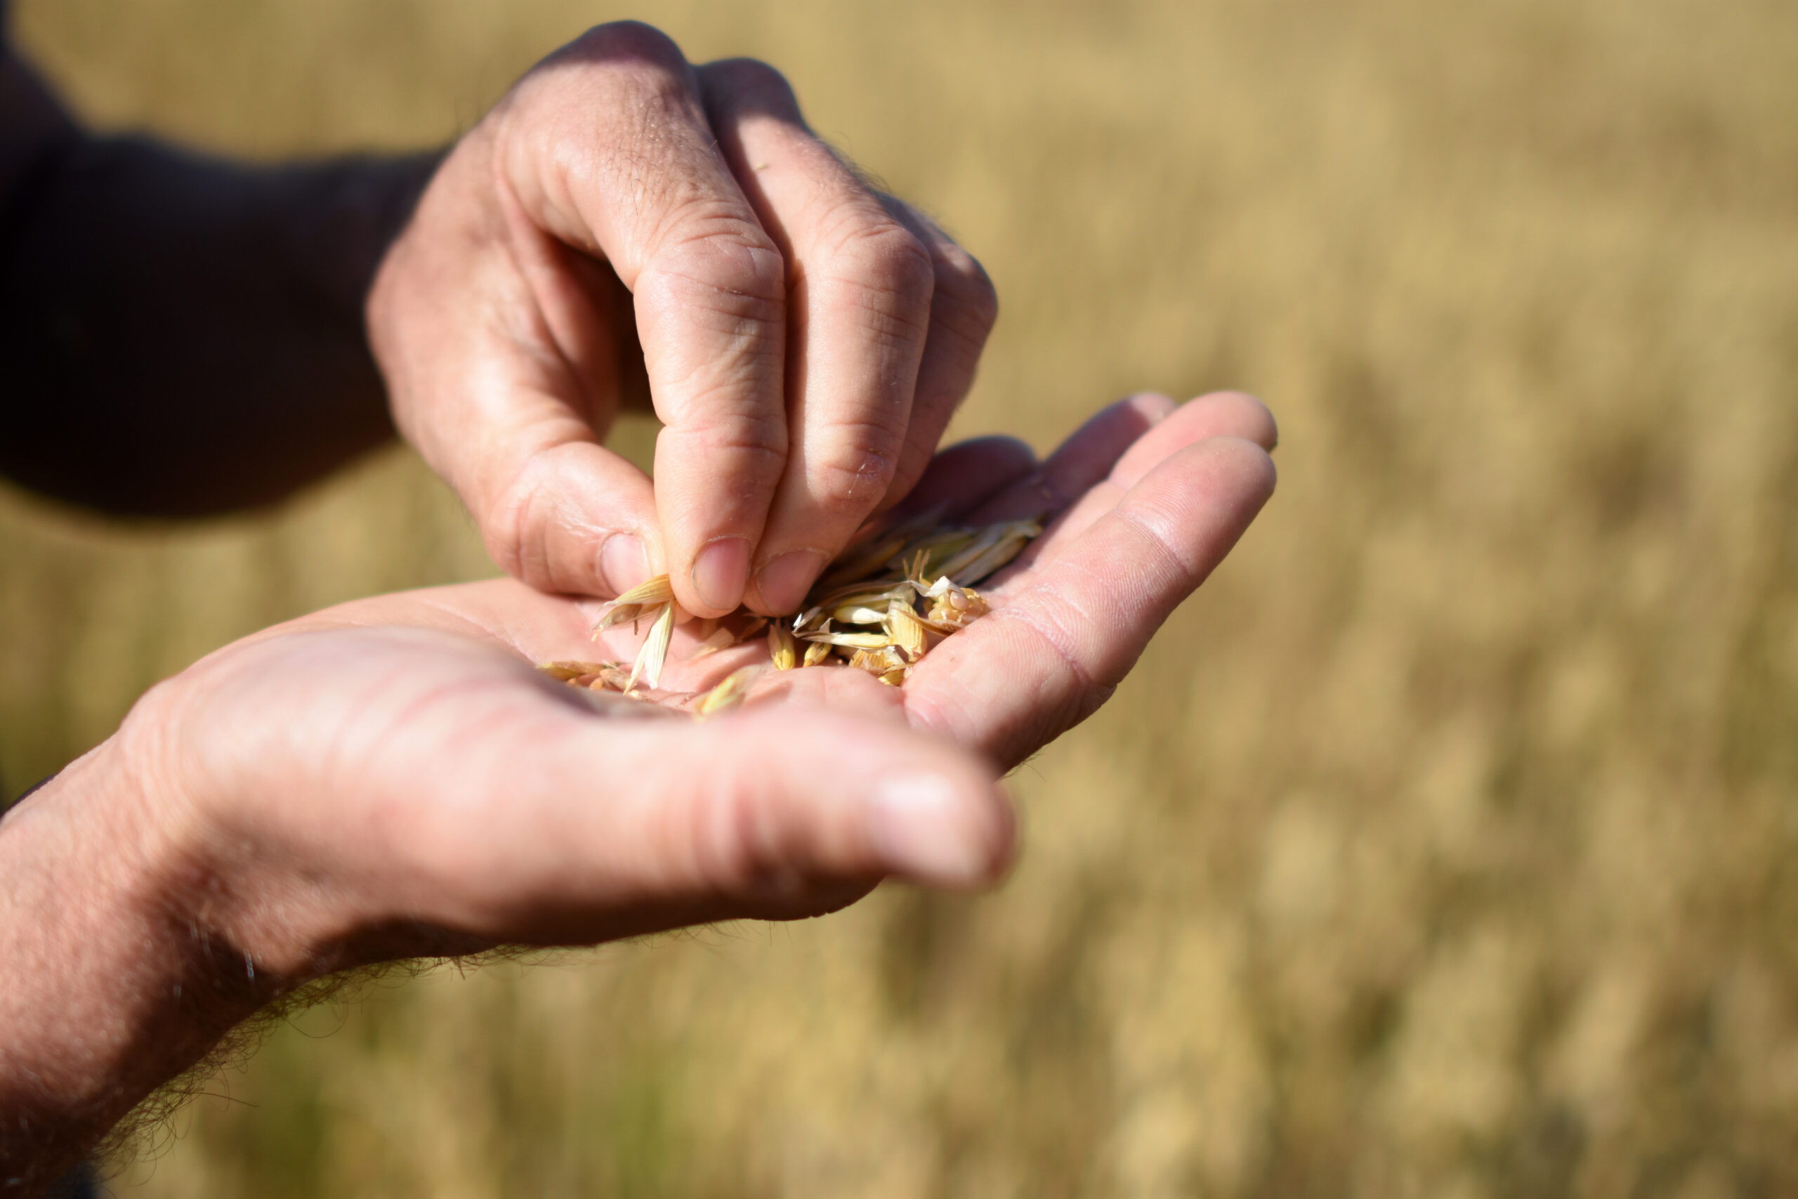
<svg viewBox="0 0 1798 1199">
<path fill-rule="evenodd" d="M 390 437 L 361 304 L 430 165 L 59 142 L 0 234 L 0 471 L 106 511 L 198 514 Z"/>
</svg>

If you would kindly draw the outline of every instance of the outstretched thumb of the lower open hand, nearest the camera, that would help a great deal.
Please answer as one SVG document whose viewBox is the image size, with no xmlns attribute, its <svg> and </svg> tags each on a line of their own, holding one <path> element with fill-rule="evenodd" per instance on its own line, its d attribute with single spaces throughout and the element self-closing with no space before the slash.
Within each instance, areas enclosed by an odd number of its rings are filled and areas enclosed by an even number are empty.
<svg viewBox="0 0 1798 1199">
<path fill-rule="evenodd" d="M 442 780 L 478 787 L 475 805 L 505 796 L 503 820 L 442 856 L 460 863 L 460 915 L 500 938 L 813 915 L 841 906 L 845 884 L 971 888 L 1010 863 L 992 768 L 903 724 L 793 706 L 701 724 L 570 706 L 556 724 L 494 759 L 503 777 Z"/>
</svg>

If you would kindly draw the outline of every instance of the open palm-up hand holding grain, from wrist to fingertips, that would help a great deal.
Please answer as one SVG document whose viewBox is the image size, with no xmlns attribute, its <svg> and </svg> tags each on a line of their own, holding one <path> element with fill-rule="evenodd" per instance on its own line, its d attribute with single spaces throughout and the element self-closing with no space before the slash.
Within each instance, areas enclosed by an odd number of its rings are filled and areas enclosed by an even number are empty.
<svg viewBox="0 0 1798 1199">
<path fill-rule="evenodd" d="M 885 875 L 976 886 L 1012 848 L 994 768 L 1111 694 L 1271 493 L 1271 444 L 1266 410 L 1224 394 L 1122 401 L 1041 464 L 1009 439 L 946 449 L 908 503 L 1054 521 L 904 687 L 770 669 L 692 721 L 662 705 L 766 647 L 689 658 L 678 631 L 653 701 L 595 697 L 532 663 L 629 658 L 631 629 L 595 647 L 597 602 L 494 581 L 237 642 L 151 692 L 120 744 L 214 935 L 297 978 L 809 915 Z"/>
</svg>

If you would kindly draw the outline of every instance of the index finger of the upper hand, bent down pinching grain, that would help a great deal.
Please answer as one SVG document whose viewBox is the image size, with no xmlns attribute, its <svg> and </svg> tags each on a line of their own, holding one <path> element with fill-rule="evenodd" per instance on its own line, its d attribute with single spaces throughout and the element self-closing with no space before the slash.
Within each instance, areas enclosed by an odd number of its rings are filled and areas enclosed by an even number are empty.
<svg viewBox="0 0 1798 1199">
<path fill-rule="evenodd" d="M 518 205 L 509 216 L 606 257 L 631 289 L 665 426 L 656 440 L 665 570 L 683 608 L 725 615 L 743 599 L 786 467 L 784 259 L 717 153 L 692 68 L 663 34 L 601 25 L 534 75 L 511 101 L 520 120 L 502 164 Z"/>
</svg>

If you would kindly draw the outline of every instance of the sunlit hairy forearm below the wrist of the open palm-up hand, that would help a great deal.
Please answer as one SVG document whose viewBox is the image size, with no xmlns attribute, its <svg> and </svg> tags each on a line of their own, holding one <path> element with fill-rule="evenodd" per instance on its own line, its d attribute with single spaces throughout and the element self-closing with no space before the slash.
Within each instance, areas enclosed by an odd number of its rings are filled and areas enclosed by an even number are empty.
<svg viewBox="0 0 1798 1199">
<path fill-rule="evenodd" d="M 277 985 L 196 935 L 169 890 L 111 741 L 0 822 L 5 1194 L 38 1194 Z"/>
</svg>

